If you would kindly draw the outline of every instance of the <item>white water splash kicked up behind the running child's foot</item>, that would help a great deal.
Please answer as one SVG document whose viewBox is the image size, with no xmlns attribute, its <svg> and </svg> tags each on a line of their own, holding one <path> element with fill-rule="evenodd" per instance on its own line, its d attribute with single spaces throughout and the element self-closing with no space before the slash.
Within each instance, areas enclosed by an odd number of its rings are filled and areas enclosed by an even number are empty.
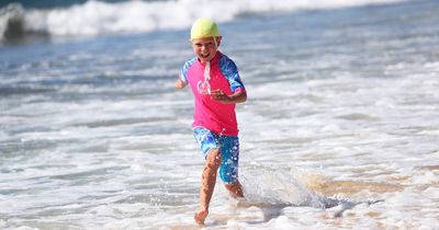
<svg viewBox="0 0 439 230">
<path fill-rule="evenodd" d="M 269 208 L 272 214 L 273 210 L 281 210 L 289 206 L 308 206 L 329 209 L 333 217 L 341 217 L 346 210 L 352 209 L 357 205 L 369 206 L 383 202 L 382 199 L 353 202 L 337 194 L 327 197 L 309 188 L 308 183 L 311 182 L 306 180 L 316 182 L 312 179 L 313 176 L 303 176 L 302 173 L 294 170 L 258 166 L 258 169 L 249 171 L 249 174 L 240 176 L 245 191 L 245 199 L 237 204 L 240 207 Z"/>
</svg>

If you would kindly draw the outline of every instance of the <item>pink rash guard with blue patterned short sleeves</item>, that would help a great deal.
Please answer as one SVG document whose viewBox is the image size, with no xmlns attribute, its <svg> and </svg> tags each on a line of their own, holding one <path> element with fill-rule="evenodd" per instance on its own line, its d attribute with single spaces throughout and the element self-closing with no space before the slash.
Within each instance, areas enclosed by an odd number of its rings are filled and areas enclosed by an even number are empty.
<svg viewBox="0 0 439 230">
<path fill-rule="evenodd" d="M 217 51 L 210 65 L 211 91 L 219 89 L 227 95 L 245 91 L 238 69 L 232 59 Z M 198 85 L 200 81 L 204 81 L 205 66 L 198 58 L 192 58 L 185 61 L 180 72 L 180 79 L 191 87 L 194 96 L 195 110 L 192 127 L 204 127 L 218 135 L 237 136 L 235 104 L 224 104 L 212 100 L 210 94 L 199 92 Z"/>
</svg>

